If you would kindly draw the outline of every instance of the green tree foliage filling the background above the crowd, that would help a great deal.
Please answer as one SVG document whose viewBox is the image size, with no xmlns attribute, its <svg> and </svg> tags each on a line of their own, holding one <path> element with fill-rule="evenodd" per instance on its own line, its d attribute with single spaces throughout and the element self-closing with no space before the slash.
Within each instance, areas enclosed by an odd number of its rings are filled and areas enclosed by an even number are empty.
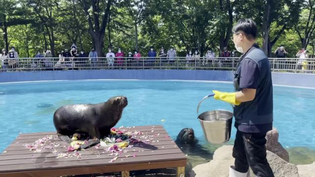
<svg viewBox="0 0 315 177">
<path fill-rule="evenodd" d="M 93 1 L 99 3 L 94 10 Z M 301 48 L 295 28 L 303 35 L 309 14 L 309 7 L 302 2 L 304 0 L 272 1 L 269 36 L 271 42 L 277 39 L 272 52 L 283 44 L 288 57 L 295 57 Z M 109 45 L 115 52 L 119 47 L 125 53 L 138 48 L 146 56 L 150 46 L 157 52 L 160 47 L 167 51 L 174 46 L 180 56 L 185 56 L 189 50 L 204 54 L 209 48 L 218 55 L 221 35 L 226 35 L 230 25 L 229 4 L 233 23 L 240 18 L 252 18 L 257 23 L 260 31 L 257 43 L 261 46 L 266 3 L 267 0 L 113 0 L 109 28 L 107 26 L 103 33 L 103 51 L 106 52 Z M 32 57 L 36 51 L 52 47 L 57 56 L 65 48 L 70 49 L 72 43 L 89 52 L 95 46 L 89 16 L 94 30 L 100 28 L 106 4 L 107 0 L 0 0 L 0 48 L 5 47 L 3 27 L 6 22 L 9 46 L 15 46 L 20 57 Z M 95 17 L 98 25 L 95 25 Z M 229 50 L 234 50 L 231 40 L 227 45 Z M 314 34 L 310 36 L 310 51 L 313 45 Z"/>
</svg>

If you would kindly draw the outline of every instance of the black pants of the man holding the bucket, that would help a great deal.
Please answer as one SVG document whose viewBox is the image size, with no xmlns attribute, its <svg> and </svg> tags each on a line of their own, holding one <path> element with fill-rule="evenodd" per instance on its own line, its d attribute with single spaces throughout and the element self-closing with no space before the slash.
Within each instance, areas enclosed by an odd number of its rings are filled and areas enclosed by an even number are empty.
<svg viewBox="0 0 315 177">
<path fill-rule="evenodd" d="M 235 170 L 246 173 L 251 167 L 257 177 L 274 177 L 266 158 L 266 133 L 236 132 L 233 147 Z"/>
</svg>

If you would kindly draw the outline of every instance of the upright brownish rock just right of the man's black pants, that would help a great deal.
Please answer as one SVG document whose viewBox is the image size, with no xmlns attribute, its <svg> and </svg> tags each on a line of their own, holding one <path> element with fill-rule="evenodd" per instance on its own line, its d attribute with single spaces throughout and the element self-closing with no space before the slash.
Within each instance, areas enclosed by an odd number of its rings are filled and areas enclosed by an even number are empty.
<svg viewBox="0 0 315 177">
<path fill-rule="evenodd" d="M 267 150 L 277 154 L 279 157 L 289 162 L 289 153 L 284 149 L 284 147 L 278 142 L 279 132 L 277 129 L 273 128 L 267 132 L 266 135 L 266 148 Z"/>
</svg>

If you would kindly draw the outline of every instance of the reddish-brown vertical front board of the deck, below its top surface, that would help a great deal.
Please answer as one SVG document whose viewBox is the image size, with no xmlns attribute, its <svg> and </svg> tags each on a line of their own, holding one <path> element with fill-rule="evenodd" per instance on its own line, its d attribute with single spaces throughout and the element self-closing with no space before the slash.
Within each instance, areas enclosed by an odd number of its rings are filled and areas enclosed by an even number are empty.
<svg viewBox="0 0 315 177">
<path fill-rule="evenodd" d="M 65 169 L 52 169 L 52 170 L 36 170 L 12 173 L 0 173 L 0 177 L 56 177 L 68 175 L 86 175 L 86 174 L 99 174 L 111 173 L 121 171 L 135 171 L 147 169 L 160 169 L 168 167 L 182 167 L 185 166 L 187 160 L 173 160 L 161 162 L 144 162 L 137 164 L 121 164 L 110 166 L 95 166 L 95 167 L 71 167 Z"/>
</svg>

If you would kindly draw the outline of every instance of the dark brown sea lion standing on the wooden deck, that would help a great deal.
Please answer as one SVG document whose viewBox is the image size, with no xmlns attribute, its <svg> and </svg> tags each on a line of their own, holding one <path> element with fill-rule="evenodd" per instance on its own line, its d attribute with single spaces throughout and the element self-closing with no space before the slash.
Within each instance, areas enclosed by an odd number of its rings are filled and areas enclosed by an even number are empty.
<svg viewBox="0 0 315 177">
<path fill-rule="evenodd" d="M 110 134 L 110 129 L 120 120 L 127 104 L 125 96 L 116 96 L 104 103 L 63 106 L 54 113 L 58 137 L 66 143 L 71 143 L 69 136 L 87 133 L 92 140 L 82 145 L 81 149 L 95 145 L 101 138 Z"/>
</svg>

